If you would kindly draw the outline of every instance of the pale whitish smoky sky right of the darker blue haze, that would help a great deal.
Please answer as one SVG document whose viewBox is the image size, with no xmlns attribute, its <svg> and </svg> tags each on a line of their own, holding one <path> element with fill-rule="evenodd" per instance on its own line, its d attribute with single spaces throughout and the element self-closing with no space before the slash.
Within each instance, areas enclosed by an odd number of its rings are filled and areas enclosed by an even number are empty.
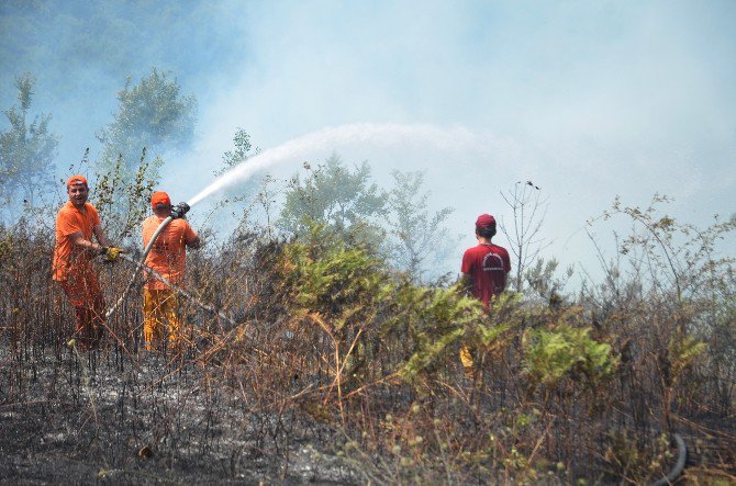
<svg viewBox="0 0 736 486">
<path fill-rule="evenodd" d="M 565 263 L 594 261 L 581 228 L 616 195 L 667 194 L 703 225 L 736 211 L 735 2 L 267 1 L 241 19 L 238 82 L 198 93 L 200 180 L 236 126 L 261 148 L 334 128 L 282 166 L 336 150 L 387 182 L 426 170 L 460 247 L 533 180 Z"/>
</svg>

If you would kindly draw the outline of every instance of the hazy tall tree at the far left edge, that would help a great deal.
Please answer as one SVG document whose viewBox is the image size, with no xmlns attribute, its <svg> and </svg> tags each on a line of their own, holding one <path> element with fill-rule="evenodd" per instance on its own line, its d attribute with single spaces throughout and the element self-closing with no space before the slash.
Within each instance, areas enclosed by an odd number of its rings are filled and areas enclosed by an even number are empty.
<svg viewBox="0 0 736 486">
<path fill-rule="evenodd" d="M 36 115 L 29 123 L 34 83 L 29 72 L 15 78 L 19 104 L 4 112 L 10 128 L 0 132 L 1 199 L 11 207 L 19 196 L 33 205 L 34 194 L 54 183 L 58 137 L 48 129 L 51 114 Z"/>
</svg>

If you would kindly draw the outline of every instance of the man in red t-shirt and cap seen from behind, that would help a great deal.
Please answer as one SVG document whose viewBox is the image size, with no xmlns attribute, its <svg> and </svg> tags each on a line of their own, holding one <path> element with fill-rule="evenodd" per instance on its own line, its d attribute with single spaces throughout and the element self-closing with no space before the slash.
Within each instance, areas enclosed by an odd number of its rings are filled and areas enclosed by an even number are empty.
<svg viewBox="0 0 736 486">
<path fill-rule="evenodd" d="M 505 248 L 491 242 L 495 236 L 495 218 L 490 214 L 481 214 L 476 221 L 476 239 L 478 246 L 468 248 L 462 255 L 462 276 L 468 291 L 488 308 L 494 295 L 499 295 L 506 286 L 506 275 L 511 271 L 511 260 Z M 473 361 L 470 350 L 460 349 L 460 361 L 466 374 L 471 375 Z"/>
</svg>

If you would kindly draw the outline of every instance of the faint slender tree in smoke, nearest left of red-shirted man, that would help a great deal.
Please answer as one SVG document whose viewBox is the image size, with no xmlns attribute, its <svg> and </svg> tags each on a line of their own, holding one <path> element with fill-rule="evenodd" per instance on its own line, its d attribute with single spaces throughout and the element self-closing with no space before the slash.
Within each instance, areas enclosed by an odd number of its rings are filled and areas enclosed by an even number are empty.
<svg viewBox="0 0 736 486">
<path fill-rule="evenodd" d="M 392 172 L 395 187 L 389 195 L 391 233 L 397 239 L 392 248 L 394 263 L 405 270 L 415 281 L 431 270 L 450 251 L 456 239 L 449 236 L 443 223 L 453 214 L 451 207 L 430 213 L 430 192 L 420 193 L 424 184 L 424 172 Z M 437 275 L 433 275 L 437 276 Z"/>
</svg>

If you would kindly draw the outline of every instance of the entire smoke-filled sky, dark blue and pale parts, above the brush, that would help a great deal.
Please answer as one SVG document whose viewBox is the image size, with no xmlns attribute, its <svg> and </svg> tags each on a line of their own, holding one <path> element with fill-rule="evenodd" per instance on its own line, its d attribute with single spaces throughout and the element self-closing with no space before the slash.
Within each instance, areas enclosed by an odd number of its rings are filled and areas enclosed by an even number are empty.
<svg viewBox="0 0 736 486">
<path fill-rule="evenodd" d="M 733 5 L 424 7 L 9 0 L 0 3 L 0 108 L 15 103 L 16 76 L 34 76 L 30 115 L 52 115 L 56 168 L 66 171 L 87 147 L 91 162 L 110 159 L 97 136 L 115 125 L 129 77 L 132 89 L 154 68 L 169 74 L 182 99 L 198 101 L 192 145 L 170 157 L 149 146 L 147 157 L 161 157 L 163 174 L 190 174 L 164 177 L 182 196 L 212 176 L 238 126 L 264 148 L 356 122 L 436 128 L 436 144 L 409 134 L 391 154 L 380 144 L 321 147 L 279 177 L 333 151 L 367 159 L 384 188 L 394 168 L 427 169 L 431 210 L 453 207 L 448 226 L 464 235 L 446 270 L 457 271 L 473 242 L 475 217 L 503 213 L 500 192 L 520 179 L 549 196 L 545 257 L 565 267 L 598 264 L 584 221 L 618 193 L 638 204 L 653 189 L 668 194 L 692 222 L 734 214 L 733 76 L 722 61 L 733 57 L 733 36 L 723 35 Z M 141 149 L 131 152 L 124 161 L 135 166 Z M 676 177 L 684 173 L 688 184 Z"/>
</svg>

